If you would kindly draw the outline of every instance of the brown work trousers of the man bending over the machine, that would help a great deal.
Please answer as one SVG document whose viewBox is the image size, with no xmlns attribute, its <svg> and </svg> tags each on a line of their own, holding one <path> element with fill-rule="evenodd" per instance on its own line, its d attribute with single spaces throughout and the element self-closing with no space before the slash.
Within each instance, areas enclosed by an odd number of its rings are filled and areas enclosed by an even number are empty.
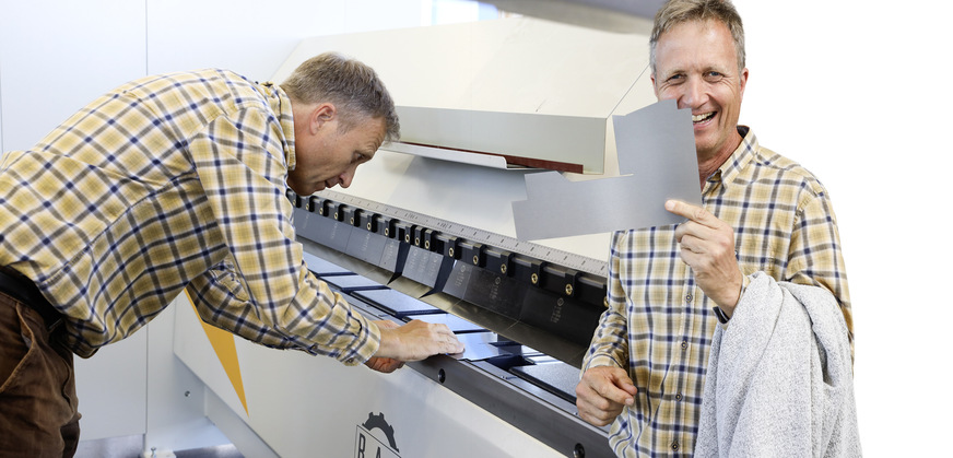
<svg viewBox="0 0 953 458">
<path fill-rule="evenodd" d="M 72 352 L 0 292 L 0 457 L 72 457 L 79 441 Z"/>
</svg>

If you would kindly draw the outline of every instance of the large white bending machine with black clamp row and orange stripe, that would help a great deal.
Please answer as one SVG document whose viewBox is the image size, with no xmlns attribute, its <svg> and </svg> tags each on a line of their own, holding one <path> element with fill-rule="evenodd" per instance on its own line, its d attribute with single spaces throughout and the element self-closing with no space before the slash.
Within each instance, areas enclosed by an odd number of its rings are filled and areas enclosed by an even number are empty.
<svg viewBox="0 0 953 458">
<path fill-rule="evenodd" d="M 645 35 L 520 17 L 317 37 L 274 81 L 331 49 L 378 71 L 402 139 L 348 189 L 287 192 L 305 261 L 362 314 L 444 322 L 467 351 L 381 375 L 223 336 L 180 303 L 175 351 L 209 418 L 246 456 L 612 456 L 575 409 L 609 234 L 520 240 L 510 202 L 539 168 L 617 174 L 608 119 L 655 101 Z"/>
</svg>

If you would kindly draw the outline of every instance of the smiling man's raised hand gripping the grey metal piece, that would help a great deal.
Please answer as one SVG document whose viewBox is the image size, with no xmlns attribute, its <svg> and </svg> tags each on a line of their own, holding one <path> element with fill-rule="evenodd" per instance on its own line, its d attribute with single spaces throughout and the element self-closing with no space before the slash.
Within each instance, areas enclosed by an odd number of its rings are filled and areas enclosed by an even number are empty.
<svg viewBox="0 0 953 458">
<path fill-rule="evenodd" d="M 666 210 L 689 219 L 675 228 L 681 258 L 695 273 L 698 287 L 730 316 L 744 280 L 734 254 L 734 230 L 701 207 L 669 200 Z"/>
</svg>

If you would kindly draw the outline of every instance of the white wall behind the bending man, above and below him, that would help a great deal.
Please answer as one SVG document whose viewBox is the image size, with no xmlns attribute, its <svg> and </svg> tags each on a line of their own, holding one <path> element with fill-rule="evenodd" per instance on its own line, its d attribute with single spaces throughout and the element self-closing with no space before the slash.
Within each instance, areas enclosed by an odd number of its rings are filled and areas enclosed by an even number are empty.
<svg viewBox="0 0 953 458">
<path fill-rule="evenodd" d="M 99 94 L 139 77 L 223 67 L 263 81 L 305 37 L 479 14 L 475 4 L 435 8 L 440 4 L 0 0 L 0 154 L 30 148 Z M 145 450 L 221 443 L 201 419 L 201 383 L 173 357 L 172 314 L 93 359 L 77 360 L 84 441 L 145 434 Z"/>
</svg>

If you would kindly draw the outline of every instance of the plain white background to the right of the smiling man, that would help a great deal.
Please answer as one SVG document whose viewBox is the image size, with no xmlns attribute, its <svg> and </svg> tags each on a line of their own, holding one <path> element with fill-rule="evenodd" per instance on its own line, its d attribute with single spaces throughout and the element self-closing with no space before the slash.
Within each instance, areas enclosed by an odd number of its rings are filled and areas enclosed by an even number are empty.
<svg viewBox="0 0 953 458">
<path fill-rule="evenodd" d="M 741 118 L 831 192 L 856 331 L 866 456 L 943 455 L 953 248 L 948 2 L 736 0 L 749 85 Z M 945 356 L 944 356 L 945 355 Z"/>
</svg>

